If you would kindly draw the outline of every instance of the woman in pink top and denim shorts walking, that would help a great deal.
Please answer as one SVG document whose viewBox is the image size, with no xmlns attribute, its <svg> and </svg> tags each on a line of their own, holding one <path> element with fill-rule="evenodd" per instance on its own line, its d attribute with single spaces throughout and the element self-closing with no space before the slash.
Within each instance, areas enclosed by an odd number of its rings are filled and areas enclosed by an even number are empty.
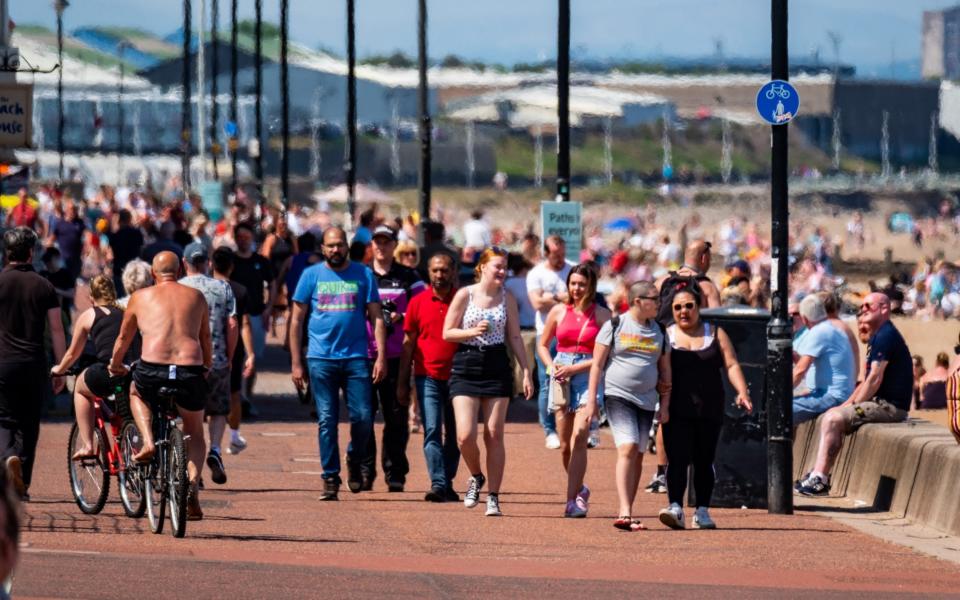
<svg viewBox="0 0 960 600">
<path fill-rule="evenodd" d="M 587 439 L 590 436 L 590 412 L 587 388 L 593 364 L 593 345 L 600 327 L 610 319 L 610 311 L 594 302 L 597 294 L 597 273 L 593 267 L 579 264 L 567 276 L 565 304 L 554 306 L 547 314 L 537 352 L 551 375 L 550 408 L 557 417 L 557 435 L 563 467 L 567 470 L 567 505 L 565 517 L 586 517 L 590 490 L 583 485 L 587 471 Z M 550 356 L 550 342 L 557 338 L 557 355 Z M 554 395 L 557 384 L 566 385 L 566 405 Z M 559 402 L 558 402 L 559 401 Z"/>
</svg>

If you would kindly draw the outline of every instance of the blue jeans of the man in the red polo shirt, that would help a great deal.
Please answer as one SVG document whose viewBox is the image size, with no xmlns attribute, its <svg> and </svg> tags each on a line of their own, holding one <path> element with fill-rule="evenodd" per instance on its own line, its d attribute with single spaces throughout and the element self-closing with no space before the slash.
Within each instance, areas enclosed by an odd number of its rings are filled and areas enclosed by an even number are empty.
<svg viewBox="0 0 960 600">
<path fill-rule="evenodd" d="M 460 448 L 457 447 L 457 420 L 448 383 L 424 375 L 418 375 L 416 383 L 420 418 L 423 419 L 423 456 L 430 474 L 430 486 L 452 488 L 460 465 Z"/>
</svg>

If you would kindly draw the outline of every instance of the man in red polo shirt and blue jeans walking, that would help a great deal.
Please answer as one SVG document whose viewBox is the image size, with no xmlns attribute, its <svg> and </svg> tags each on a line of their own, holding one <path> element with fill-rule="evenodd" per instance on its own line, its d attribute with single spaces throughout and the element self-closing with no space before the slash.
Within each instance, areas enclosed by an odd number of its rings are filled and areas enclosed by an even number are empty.
<svg viewBox="0 0 960 600">
<path fill-rule="evenodd" d="M 403 324 L 403 354 L 397 378 L 397 399 L 410 402 L 410 365 L 414 367 L 417 401 L 423 419 L 423 454 L 430 473 L 428 502 L 459 502 L 453 478 L 460 464 L 457 426 L 447 384 L 457 345 L 444 341 L 443 320 L 456 289 L 453 259 L 438 253 L 427 263 L 430 292 L 417 294 L 407 305 Z"/>
</svg>

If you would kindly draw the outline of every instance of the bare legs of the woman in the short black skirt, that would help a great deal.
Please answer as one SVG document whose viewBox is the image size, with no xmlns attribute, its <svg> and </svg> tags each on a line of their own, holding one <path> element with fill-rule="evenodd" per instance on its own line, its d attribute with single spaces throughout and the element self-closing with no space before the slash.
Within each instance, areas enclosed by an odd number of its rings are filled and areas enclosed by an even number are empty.
<svg viewBox="0 0 960 600">
<path fill-rule="evenodd" d="M 477 411 L 483 410 L 483 445 L 487 450 L 487 489 L 500 492 L 506 452 L 503 447 L 503 425 L 507 418 L 506 398 L 474 398 L 455 396 L 453 412 L 457 420 L 457 445 L 471 475 L 483 472 L 480 447 L 477 444 Z"/>
</svg>

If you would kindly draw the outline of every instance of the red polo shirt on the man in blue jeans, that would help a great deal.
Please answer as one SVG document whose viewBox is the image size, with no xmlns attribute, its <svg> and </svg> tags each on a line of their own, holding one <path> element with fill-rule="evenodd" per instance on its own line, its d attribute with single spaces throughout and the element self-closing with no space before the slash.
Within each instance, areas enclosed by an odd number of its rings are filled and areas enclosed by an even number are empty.
<svg viewBox="0 0 960 600">
<path fill-rule="evenodd" d="M 432 289 L 417 294 L 407 305 L 403 318 L 403 331 L 414 336 L 413 372 L 433 379 L 447 381 L 453 364 L 457 344 L 444 341 L 443 320 L 457 290 L 438 298 Z"/>
</svg>

